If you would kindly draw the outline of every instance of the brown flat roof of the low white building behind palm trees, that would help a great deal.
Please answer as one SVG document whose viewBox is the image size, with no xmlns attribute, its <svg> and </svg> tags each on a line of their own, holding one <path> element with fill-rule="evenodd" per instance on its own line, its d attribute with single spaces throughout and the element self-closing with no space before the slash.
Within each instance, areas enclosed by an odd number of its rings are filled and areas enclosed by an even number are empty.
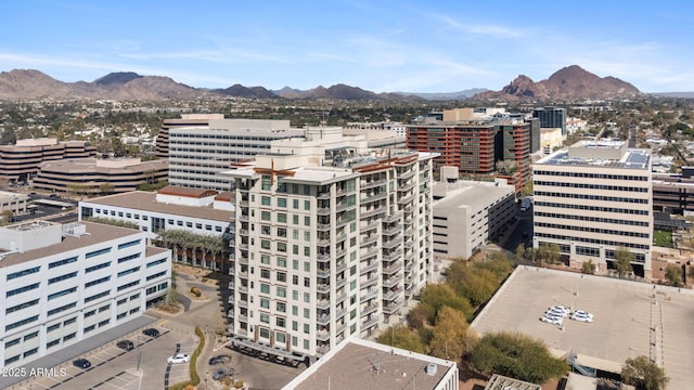
<svg viewBox="0 0 694 390">
<path fill-rule="evenodd" d="M 83 200 L 80 204 L 123 207 L 132 210 L 162 212 L 175 216 L 231 222 L 233 212 L 209 207 L 182 206 L 156 202 L 156 193 L 133 191 Z"/>
</svg>

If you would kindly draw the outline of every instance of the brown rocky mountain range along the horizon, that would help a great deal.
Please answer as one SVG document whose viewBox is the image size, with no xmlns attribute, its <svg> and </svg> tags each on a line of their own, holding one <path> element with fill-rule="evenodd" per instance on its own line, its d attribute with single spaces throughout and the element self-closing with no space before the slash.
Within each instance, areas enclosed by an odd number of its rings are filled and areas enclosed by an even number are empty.
<svg viewBox="0 0 694 390">
<path fill-rule="evenodd" d="M 285 87 L 268 90 L 264 87 L 234 84 L 226 89 L 194 88 L 168 77 L 141 76 L 136 73 L 112 73 L 92 82 L 63 82 L 35 69 L 14 69 L 0 73 L 0 100 L 120 100 L 160 101 L 194 99 L 307 99 L 307 100 L 566 100 L 618 99 L 643 95 L 635 87 L 615 77 L 599 77 L 578 65 L 557 70 L 538 82 L 520 75 L 501 91 L 471 89 L 451 93 L 375 93 L 343 83 L 310 90 Z"/>
</svg>

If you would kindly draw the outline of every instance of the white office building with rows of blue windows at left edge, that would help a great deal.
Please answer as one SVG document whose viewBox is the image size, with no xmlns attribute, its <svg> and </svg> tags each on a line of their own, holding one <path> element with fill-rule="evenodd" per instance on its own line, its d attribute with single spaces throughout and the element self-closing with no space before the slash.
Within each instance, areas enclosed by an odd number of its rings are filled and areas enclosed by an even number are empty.
<svg viewBox="0 0 694 390">
<path fill-rule="evenodd" d="M 0 227 L 0 364 L 24 365 L 140 316 L 169 288 L 171 255 L 92 222 Z"/>
</svg>

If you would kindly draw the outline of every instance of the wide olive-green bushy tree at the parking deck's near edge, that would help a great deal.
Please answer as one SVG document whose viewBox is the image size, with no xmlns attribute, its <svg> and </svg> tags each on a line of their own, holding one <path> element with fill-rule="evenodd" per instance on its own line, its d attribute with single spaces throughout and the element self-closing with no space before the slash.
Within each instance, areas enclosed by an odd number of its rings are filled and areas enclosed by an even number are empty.
<svg viewBox="0 0 694 390">
<path fill-rule="evenodd" d="M 532 384 L 543 384 L 568 370 L 567 363 L 554 358 L 544 342 L 510 332 L 485 334 L 472 350 L 470 363 L 484 375 L 497 373 Z"/>
</svg>

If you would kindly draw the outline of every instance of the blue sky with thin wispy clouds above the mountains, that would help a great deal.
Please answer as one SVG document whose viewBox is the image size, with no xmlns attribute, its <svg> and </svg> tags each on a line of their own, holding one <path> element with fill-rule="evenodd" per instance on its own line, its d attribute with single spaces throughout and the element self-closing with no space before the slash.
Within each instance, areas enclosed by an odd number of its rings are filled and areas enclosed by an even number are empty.
<svg viewBox="0 0 694 390">
<path fill-rule="evenodd" d="M 500 90 L 569 65 L 694 91 L 694 2 L 3 0 L 0 70 L 191 87 Z"/>
</svg>

